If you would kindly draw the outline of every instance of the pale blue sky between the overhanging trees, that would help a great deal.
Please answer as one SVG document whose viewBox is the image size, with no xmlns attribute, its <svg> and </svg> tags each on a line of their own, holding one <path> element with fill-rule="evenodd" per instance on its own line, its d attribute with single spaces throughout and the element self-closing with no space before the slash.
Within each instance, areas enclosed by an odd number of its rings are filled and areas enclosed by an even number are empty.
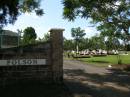
<svg viewBox="0 0 130 97">
<path fill-rule="evenodd" d="M 51 28 L 63 28 L 63 35 L 67 39 L 72 39 L 71 28 L 81 27 L 85 30 L 86 36 L 90 38 L 99 33 L 95 27 L 92 27 L 89 20 L 77 18 L 74 22 L 63 19 L 62 0 L 41 0 L 41 8 L 44 10 L 43 16 L 36 16 L 35 13 L 25 13 L 18 17 L 15 24 L 9 24 L 4 27 L 6 30 L 17 32 L 27 27 L 33 27 L 38 38 L 43 38 Z"/>
</svg>

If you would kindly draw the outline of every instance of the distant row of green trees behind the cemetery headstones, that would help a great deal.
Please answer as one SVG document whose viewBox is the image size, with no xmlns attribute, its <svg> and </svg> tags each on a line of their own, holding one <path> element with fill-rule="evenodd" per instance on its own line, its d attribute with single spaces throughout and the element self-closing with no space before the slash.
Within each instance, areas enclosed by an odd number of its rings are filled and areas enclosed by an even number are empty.
<svg viewBox="0 0 130 97">
<path fill-rule="evenodd" d="M 64 50 L 75 50 L 75 39 L 64 39 Z M 125 45 L 118 39 L 118 37 L 102 35 L 92 36 L 91 38 L 82 38 L 78 43 L 79 50 L 126 50 Z M 127 48 L 129 45 L 127 46 Z M 129 48 L 128 48 L 129 49 Z"/>
</svg>

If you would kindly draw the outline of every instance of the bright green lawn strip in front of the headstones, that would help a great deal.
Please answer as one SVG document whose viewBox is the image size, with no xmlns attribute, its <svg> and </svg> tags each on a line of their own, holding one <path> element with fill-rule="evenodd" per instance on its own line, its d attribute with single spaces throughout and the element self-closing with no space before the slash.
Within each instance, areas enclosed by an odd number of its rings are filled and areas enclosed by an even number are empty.
<svg viewBox="0 0 130 97">
<path fill-rule="evenodd" d="M 130 52 L 128 52 L 128 55 L 120 55 L 120 59 L 122 61 L 122 64 L 130 64 Z M 108 56 L 91 57 L 91 58 L 78 58 L 78 60 L 96 66 L 108 66 L 109 64 L 111 65 L 118 64 L 117 55 L 108 55 Z"/>
</svg>

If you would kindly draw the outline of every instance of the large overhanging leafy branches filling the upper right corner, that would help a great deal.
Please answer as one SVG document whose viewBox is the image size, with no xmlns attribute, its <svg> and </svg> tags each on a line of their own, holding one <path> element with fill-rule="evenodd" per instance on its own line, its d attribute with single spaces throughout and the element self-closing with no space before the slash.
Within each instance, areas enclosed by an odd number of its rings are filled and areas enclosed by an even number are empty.
<svg viewBox="0 0 130 97">
<path fill-rule="evenodd" d="M 130 0 L 63 0 L 64 18 L 92 18 L 100 30 L 124 32 L 130 40 Z"/>
</svg>

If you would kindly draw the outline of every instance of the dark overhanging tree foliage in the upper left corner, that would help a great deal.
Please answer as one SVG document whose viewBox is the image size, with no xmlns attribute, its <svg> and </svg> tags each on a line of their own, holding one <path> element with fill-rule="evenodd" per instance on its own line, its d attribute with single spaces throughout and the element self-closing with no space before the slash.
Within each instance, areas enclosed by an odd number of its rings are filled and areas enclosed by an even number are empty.
<svg viewBox="0 0 130 97">
<path fill-rule="evenodd" d="M 40 16 L 43 14 L 40 0 L 0 0 L 0 28 L 13 24 L 22 13 L 32 11 Z"/>
</svg>

